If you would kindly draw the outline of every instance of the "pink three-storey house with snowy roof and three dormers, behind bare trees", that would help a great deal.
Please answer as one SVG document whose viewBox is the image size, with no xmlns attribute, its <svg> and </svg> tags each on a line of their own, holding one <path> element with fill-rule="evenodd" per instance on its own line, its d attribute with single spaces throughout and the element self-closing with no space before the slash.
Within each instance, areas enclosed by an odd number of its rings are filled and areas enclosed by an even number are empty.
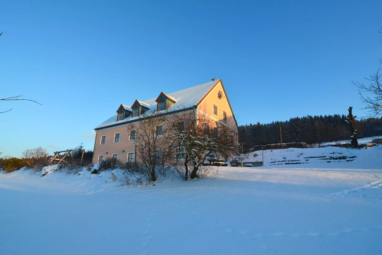
<svg viewBox="0 0 382 255">
<path fill-rule="evenodd" d="M 116 114 L 94 129 L 96 135 L 92 163 L 99 163 L 106 157 L 134 162 L 136 132 L 128 130 L 128 126 L 138 123 L 142 114 L 150 111 L 155 111 L 155 114 L 181 114 L 191 110 L 204 113 L 214 121 L 231 120 L 237 131 L 236 119 L 222 80 L 213 80 L 173 93 L 159 92 L 156 97 L 146 101 L 135 100 L 131 105 L 120 105 Z"/>
</svg>

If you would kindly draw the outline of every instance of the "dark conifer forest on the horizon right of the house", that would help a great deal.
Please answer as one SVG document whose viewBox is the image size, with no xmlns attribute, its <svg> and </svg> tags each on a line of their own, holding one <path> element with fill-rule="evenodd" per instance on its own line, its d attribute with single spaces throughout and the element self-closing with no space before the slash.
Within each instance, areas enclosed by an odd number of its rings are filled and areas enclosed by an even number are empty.
<svg viewBox="0 0 382 255">
<path fill-rule="evenodd" d="M 332 142 L 350 139 L 349 124 L 346 115 L 304 116 L 288 121 L 276 121 L 268 124 L 249 124 L 239 126 L 239 142 L 245 142 L 247 149 L 255 145 L 282 142 L 306 142 L 307 144 Z M 382 118 L 356 120 L 358 138 L 382 135 Z"/>
</svg>

